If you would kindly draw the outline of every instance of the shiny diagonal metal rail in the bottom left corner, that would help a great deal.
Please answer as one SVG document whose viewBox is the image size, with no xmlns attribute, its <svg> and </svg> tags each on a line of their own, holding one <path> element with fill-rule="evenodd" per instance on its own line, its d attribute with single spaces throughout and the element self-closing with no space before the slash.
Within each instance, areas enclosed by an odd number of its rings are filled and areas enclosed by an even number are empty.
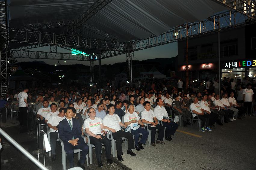
<svg viewBox="0 0 256 170">
<path fill-rule="evenodd" d="M 35 159 L 27 150 L 25 150 L 20 144 L 18 144 L 11 136 L 9 136 L 3 129 L 0 128 L 0 134 L 3 135 L 11 144 L 13 144 L 21 153 L 27 156 L 32 162 L 35 163 L 40 169 L 48 170 L 41 162 Z"/>
</svg>

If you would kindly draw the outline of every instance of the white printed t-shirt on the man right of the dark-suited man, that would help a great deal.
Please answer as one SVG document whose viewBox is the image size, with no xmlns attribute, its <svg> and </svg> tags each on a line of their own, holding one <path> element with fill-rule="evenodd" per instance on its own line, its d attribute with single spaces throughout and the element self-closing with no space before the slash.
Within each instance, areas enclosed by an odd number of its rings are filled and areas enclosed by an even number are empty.
<svg viewBox="0 0 256 170">
<path fill-rule="evenodd" d="M 102 119 L 100 117 L 95 117 L 94 120 L 91 120 L 89 117 L 84 121 L 84 128 L 89 128 L 89 131 L 91 131 L 93 134 L 100 135 L 101 134 L 100 124 L 103 124 Z"/>
</svg>

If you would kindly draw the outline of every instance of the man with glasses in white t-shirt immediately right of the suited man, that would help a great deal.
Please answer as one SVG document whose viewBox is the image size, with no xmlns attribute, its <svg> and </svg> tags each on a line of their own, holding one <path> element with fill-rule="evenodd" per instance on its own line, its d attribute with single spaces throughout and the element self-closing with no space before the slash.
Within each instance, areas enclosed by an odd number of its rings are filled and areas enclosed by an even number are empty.
<svg viewBox="0 0 256 170">
<path fill-rule="evenodd" d="M 90 135 L 89 138 L 91 144 L 95 146 L 98 167 L 100 168 L 103 167 L 101 161 L 102 144 L 105 145 L 107 163 L 113 163 L 113 160 L 111 159 L 111 142 L 105 134 L 101 135 L 101 131 L 104 129 L 103 122 L 100 117 L 96 117 L 96 111 L 94 108 L 89 108 L 87 114 L 89 118 L 85 120 L 83 127 L 85 128 L 86 133 Z"/>
</svg>

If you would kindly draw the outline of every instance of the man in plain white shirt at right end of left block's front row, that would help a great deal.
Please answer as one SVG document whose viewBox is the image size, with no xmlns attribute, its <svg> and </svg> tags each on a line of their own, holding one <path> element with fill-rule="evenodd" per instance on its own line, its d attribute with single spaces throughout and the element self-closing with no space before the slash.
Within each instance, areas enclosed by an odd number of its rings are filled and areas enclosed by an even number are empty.
<svg viewBox="0 0 256 170">
<path fill-rule="evenodd" d="M 157 106 L 154 109 L 154 114 L 156 115 L 156 118 L 158 120 L 162 120 L 163 126 L 166 127 L 165 129 L 165 139 L 168 141 L 171 141 L 171 135 L 174 135 L 176 130 L 178 129 L 179 125 L 177 123 L 172 122 L 171 120 L 167 119 L 168 117 L 167 111 L 165 110 L 165 107 L 163 106 L 164 103 L 161 98 L 156 99 Z M 165 144 L 162 141 L 156 141 L 157 144 Z"/>
</svg>

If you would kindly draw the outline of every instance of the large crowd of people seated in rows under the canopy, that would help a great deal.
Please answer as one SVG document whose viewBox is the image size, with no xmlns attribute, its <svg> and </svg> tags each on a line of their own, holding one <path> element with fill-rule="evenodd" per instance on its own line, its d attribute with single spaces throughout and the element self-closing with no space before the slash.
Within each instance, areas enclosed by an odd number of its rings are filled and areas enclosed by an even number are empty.
<svg viewBox="0 0 256 170">
<path fill-rule="evenodd" d="M 78 88 L 73 88 L 76 90 L 71 88 L 68 90 L 64 88 L 39 90 L 35 88 L 30 91 L 24 89 L 17 95 L 14 93 L 16 96 L 13 94 L 9 96 L 11 102 L 17 99 L 19 106 L 24 102 L 25 106 L 35 103 L 36 117 L 50 128 L 52 161 L 56 160 L 55 148 L 57 133 L 59 133 L 60 139 L 66 141 L 64 149 L 68 154 L 70 167 L 74 166 L 72 161 L 74 148 L 83 150 L 82 154 L 88 153 L 88 146 L 81 144 L 84 139 L 79 137 L 80 133 L 83 134 L 84 129 L 85 133 L 90 136 L 91 144 L 95 146 L 98 167 L 103 167 L 102 144 L 106 147 L 107 163 L 113 163 L 110 156 L 111 144 L 109 138 L 106 138 L 105 134 L 102 135 L 103 129 L 112 132 L 113 139 L 116 140 L 117 158 L 119 161 L 123 161 L 122 137 L 128 139 L 127 154 L 136 156 L 132 150 L 143 150 L 149 133 L 149 141 L 153 147 L 156 144 L 165 144 L 164 139 L 171 141 L 178 128 L 178 121 L 182 121 L 183 126 L 186 127 L 193 123 L 192 117 L 200 119 L 201 131 L 205 132 L 212 131 L 215 123 L 223 126 L 222 119 L 225 123 L 229 123 L 236 120 L 236 115 L 242 119 L 245 114 L 251 114 L 249 108 L 241 106 L 241 101 L 236 96 L 239 90 L 222 90 L 220 96 L 215 91 L 201 87 L 202 83 L 192 92 L 191 86 L 189 86 L 190 90 L 183 92 L 180 88 L 177 90 L 175 86 L 170 87 L 170 84 L 167 82 L 166 86 L 162 86 L 163 89 L 157 90 L 143 87 L 126 87 L 123 90 L 122 88 L 111 88 L 107 83 L 105 87 L 107 90 L 104 89 L 103 92 L 98 91 L 96 85 L 88 90 L 86 88 L 82 88 L 82 90 L 78 90 Z M 247 83 L 247 88 L 242 92 L 245 106 L 251 106 L 250 102 L 253 101 L 251 86 L 251 83 Z M 239 88 L 241 89 L 241 87 Z M 23 113 L 24 108 L 20 107 L 20 109 L 20 113 Z M 177 114 L 181 115 L 181 120 L 175 116 Z M 22 114 L 19 117 L 24 120 Z M 69 129 L 63 127 L 64 125 L 67 125 Z M 74 125 L 77 132 L 72 134 L 74 132 L 71 129 Z M 127 128 L 130 130 L 126 132 L 124 129 Z M 155 140 L 156 131 L 159 131 L 159 134 Z M 69 135 L 67 136 L 66 133 Z M 85 157 L 81 156 L 77 165 L 84 168 L 84 159 Z"/>
</svg>

